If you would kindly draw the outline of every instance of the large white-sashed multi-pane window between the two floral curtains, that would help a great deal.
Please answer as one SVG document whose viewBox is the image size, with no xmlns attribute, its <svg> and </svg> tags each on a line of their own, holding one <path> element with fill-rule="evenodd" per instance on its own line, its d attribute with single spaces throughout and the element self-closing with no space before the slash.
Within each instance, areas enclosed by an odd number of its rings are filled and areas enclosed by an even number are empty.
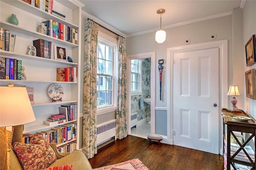
<svg viewBox="0 0 256 170">
<path fill-rule="evenodd" d="M 114 44 L 98 39 L 97 53 L 97 113 L 107 112 L 116 107 L 115 96 L 115 64 Z M 99 111 L 100 110 L 100 111 Z"/>
</svg>

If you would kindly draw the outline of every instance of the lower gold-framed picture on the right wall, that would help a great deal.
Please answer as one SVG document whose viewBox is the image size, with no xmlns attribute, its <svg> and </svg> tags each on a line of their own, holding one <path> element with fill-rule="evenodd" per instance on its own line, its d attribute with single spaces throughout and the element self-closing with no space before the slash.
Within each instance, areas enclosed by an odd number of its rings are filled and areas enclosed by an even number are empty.
<svg viewBox="0 0 256 170">
<path fill-rule="evenodd" d="M 256 70 L 251 69 L 245 72 L 246 97 L 256 99 Z"/>
</svg>

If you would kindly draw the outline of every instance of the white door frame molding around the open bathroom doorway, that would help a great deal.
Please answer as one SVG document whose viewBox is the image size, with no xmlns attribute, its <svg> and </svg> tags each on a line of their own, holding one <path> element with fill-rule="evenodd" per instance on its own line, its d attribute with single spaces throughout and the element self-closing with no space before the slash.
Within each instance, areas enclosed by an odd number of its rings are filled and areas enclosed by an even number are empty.
<svg viewBox="0 0 256 170">
<path fill-rule="evenodd" d="M 134 54 L 134 55 L 127 55 L 127 74 L 128 74 L 128 84 L 127 84 L 127 106 L 128 106 L 128 134 L 131 134 L 131 60 L 132 59 L 151 59 L 150 63 L 150 96 L 151 96 L 151 104 L 150 104 L 150 120 L 151 120 L 151 126 L 150 126 L 150 131 L 151 133 L 155 133 L 155 63 L 156 63 L 156 52 L 148 52 L 148 53 L 140 53 L 140 54 Z M 147 137 L 145 137 L 147 139 Z"/>
</svg>

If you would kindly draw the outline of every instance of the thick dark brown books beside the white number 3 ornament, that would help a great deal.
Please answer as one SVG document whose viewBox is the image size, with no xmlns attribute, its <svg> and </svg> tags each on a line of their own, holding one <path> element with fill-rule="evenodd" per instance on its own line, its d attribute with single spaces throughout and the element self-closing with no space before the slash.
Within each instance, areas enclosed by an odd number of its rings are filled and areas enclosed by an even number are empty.
<svg viewBox="0 0 256 170">
<path fill-rule="evenodd" d="M 52 42 L 44 39 L 33 40 L 33 46 L 36 47 L 36 56 L 47 59 L 52 58 Z"/>
</svg>

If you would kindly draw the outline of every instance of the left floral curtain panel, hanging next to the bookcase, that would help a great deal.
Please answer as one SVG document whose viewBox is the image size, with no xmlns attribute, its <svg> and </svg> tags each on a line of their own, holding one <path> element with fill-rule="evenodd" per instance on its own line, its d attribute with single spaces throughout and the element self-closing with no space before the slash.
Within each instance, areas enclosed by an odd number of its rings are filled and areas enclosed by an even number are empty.
<svg viewBox="0 0 256 170">
<path fill-rule="evenodd" d="M 87 158 L 97 153 L 97 41 L 98 24 L 92 20 L 85 24 L 84 52 L 84 104 L 83 104 L 83 148 Z"/>
</svg>

